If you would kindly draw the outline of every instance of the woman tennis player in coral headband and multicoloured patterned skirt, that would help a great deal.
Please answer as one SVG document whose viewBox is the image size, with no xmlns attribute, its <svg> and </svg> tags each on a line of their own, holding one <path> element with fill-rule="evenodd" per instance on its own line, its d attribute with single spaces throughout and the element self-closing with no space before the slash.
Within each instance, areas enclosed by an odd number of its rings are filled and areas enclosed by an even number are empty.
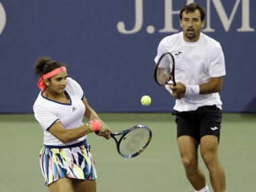
<svg viewBox="0 0 256 192">
<path fill-rule="evenodd" d="M 67 77 L 65 64 L 40 57 L 35 64 L 41 89 L 33 106 L 44 131 L 40 167 L 51 192 L 96 191 L 96 169 L 87 134 L 110 138 L 110 129 L 90 107 L 80 85 Z M 83 117 L 90 122 L 83 124 Z"/>
</svg>

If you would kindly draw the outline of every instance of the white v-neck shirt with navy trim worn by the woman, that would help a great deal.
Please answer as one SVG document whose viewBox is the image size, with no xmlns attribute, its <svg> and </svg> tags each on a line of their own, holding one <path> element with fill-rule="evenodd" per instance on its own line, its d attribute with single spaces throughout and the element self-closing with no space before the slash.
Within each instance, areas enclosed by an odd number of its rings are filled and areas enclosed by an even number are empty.
<svg viewBox="0 0 256 192">
<path fill-rule="evenodd" d="M 84 136 L 78 140 L 63 144 L 63 142 L 48 131 L 49 128 L 58 121 L 61 122 L 66 130 L 83 125 L 82 120 L 86 111 L 84 103 L 82 102 L 84 91 L 76 81 L 68 77 L 65 92 L 70 98 L 70 103 L 59 103 L 48 99 L 44 97 L 42 91 L 40 91 L 34 103 L 34 116 L 44 131 L 44 144 L 46 145 L 64 146 L 75 144 L 86 138 L 86 136 Z"/>
</svg>

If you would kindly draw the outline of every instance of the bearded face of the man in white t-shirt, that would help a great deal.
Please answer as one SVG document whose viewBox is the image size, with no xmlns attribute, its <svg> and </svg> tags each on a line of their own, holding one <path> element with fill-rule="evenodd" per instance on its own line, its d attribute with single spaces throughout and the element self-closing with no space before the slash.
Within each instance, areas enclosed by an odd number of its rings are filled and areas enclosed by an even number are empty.
<svg viewBox="0 0 256 192">
<path fill-rule="evenodd" d="M 196 42 L 200 38 L 201 28 L 203 28 L 204 20 L 201 21 L 199 10 L 195 12 L 185 13 L 181 19 L 181 28 L 183 28 L 183 38 L 186 42 Z"/>
</svg>

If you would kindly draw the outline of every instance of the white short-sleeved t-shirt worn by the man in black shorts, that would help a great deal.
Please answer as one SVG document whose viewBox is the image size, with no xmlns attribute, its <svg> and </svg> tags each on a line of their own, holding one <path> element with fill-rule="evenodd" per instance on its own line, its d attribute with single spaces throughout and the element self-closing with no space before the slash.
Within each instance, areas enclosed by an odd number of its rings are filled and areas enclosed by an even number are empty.
<svg viewBox="0 0 256 192">
<path fill-rule="evenodd" d="M 167 36 L 158 46 L 155 62 L 165 52 L 170 52 L 174 56 L 177 82 L 185 85 L 200 85 L 207 83 L 211 77 L 226 75 L 220 43 L 203 33 L 200 34 L 197 42 L 185 42 L 183 32 Z M 176 100 L 174 110 L 194 111 L 203 105 L 216 105 L 222 109 L 220 95 L 218 93 L 185 95 L 182 99 Z"/>
</svg>

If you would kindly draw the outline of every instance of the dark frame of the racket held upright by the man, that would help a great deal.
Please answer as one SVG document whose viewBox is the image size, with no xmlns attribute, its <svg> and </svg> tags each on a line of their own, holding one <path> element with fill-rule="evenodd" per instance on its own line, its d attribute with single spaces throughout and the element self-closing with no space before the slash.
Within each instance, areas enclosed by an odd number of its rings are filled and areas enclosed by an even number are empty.
<svg viewBox="0 0 256 192">
<path fill-rule="evenodd" d="M 170 76 L 169 78 L 167 79 L 167 81 L 164 83 L 164 84 L 160 84 L 158 82 L 158 78 L 157 78 L 157 73 L 158 73 L 158 66 L 160 64 L 160 62 L 162 61 L 162 58 L 164 58 L 164 56 L 166 56 L 167 54 L 170 55 L 170 57 L 172 58 L 172 72 L 170 73 Z M 165 86 L 165 85 L 172 85 L 172 86 L 176 86 L 176 81 L 175 81 L 175 78 L 174 78 L 174 71 L 175 71 L 175 60 L 174 60 L 174 56 L 172 56 L 172 54 L 170 52 L 166 52 L 164 54 L 162 54 L 160 56 L 160 58 L 158 59 L 158 62 L 156 63 L 156 66 L 155 66 L 155 70 L 154 70 L 154 78 L 155 78 L 155 81 L 158 85 L 161 85 L 161 86 Z M 169 81 L 172 80 L 173 83 L 169 83 Z"/>
</svg>

